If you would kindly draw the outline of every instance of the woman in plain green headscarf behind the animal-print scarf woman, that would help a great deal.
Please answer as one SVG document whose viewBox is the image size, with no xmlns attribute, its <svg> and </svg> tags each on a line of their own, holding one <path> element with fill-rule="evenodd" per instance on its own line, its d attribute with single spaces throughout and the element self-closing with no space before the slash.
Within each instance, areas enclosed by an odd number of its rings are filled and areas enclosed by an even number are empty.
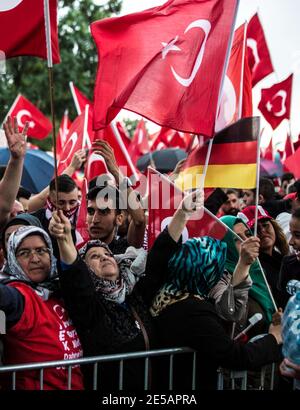
<svg viewBox="0 0 300 410">
<path fill-rule="evenodd" d="M 231 230 L 236 232 L 243 240 L 246 240 L 249 235 L 252 235 L 247 224 L 241 218 L 223 216 L 220 220 Z M 230 230 L 228 230 L 223 238 L 223 242 L 227 244 L 225 269 L 228 272 L 233 273 L 239 260 L 238 247 L 241 246 L 240 241 L 232 234 L 232 232 L 230 232 Z M 251 265 L 249 272 L 252 286 L 249 290 L 248 317 L 251 317 L 255 313 L 261 313 L 263 315 L 263 320 L 256 325 L 254 330 L 256 334 L 264 333 L 272 321 L 272 315 L 275 313 L 275 308 L 259 264 L 254 262 Z"/>
</svg>

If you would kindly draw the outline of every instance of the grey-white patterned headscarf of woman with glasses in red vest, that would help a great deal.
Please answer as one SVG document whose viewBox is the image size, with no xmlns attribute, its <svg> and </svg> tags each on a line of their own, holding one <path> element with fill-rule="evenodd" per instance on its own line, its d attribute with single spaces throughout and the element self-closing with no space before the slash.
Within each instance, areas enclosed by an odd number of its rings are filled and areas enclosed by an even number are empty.
<svg viewBox="0 0 300 410">
<path fill-rule="evenodd" d="M 49 255 L 50 255 L 50 271 L 47 279 L 43 282 L 40 283 L 35 283 L 32 282 L 26 273 L 23 271 L 21 268 L 17 257 L 16 257 L 16 252 L 17 249 L 19 248 L 20 244 L 22 241 L 27 238 L 28 236 L 32 235 L 39 235 L 41 236 L 45 243 L 47 248 L 49 248 Z M 51 239 L 49 238 L 49 235 L 41 228 L 35 227 L 35 226 L 22 226 L 19 229 L 17 229 L 15 232 L 11 234 L 8 240 L 7 244 L 7 269 L 8 269 L 8 275 L 6 276 L 6 280 L 21 280 L 23 282 L 28 283 L 30 286 L 32 286 L 36 293 L 41 296 L 44 300 L 47 300 L 51 293 L 56 290 L 58 286 L 58 281 L 55 281 L 57 276 L 56 272 L 56 258 L 53 255 L 53 249 L 52 249 L 52 243 Z M 56 283 L 55 283 L 56 282 Z"/>
</svg>

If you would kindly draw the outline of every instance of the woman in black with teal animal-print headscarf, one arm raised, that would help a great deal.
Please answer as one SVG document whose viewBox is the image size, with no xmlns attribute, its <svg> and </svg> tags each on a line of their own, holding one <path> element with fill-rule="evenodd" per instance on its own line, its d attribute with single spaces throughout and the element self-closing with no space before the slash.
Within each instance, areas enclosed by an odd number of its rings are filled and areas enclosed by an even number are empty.
<svg viewBox="0 0 300 410">
<path fill-rule="evenodd" d="M 216 389 L 220 366 L 245 370 L 279 361 L 281 329 L 279 325 L 271 325 L 270 334 L 251 344 L 235 342 L 227 335 L 223 321 L 208 297 L 223 275 L 226 245 L 206 237 L 187 241 L 187 245 L 180 243 L 187 220 L 199 206 L 197 200 L 190 204 L 196 197 L 197 193 L 192 193 L 184 199 L 148 256 L 148 263 L 160 259 L 157 269 L 161 274 L 168 271 L 151 311 L 157 315 L 161 346 L 195 349 L 198 361 L 196 388 Z M 191 388 L 191 368 L 187 369 L 187 364 L 186 358 L 176 358 L 174 388 Z M 162 377 L 166 376 L 163 370 L 162 367 Z"/>
</svg>

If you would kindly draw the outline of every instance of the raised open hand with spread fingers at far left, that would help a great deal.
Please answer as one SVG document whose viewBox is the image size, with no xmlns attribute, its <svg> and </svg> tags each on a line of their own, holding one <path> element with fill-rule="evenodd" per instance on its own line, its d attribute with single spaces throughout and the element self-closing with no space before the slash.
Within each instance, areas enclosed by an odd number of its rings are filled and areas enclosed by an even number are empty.
<svg viewBox="0 0 300 410">
<path fill-rule="evenodd" d="M 29 122 L 27 121 L 23 131 L 19 132 L 17 119 L 13 119 L 9 116 L 6 122 L 3 124 L 5 136 L 7 139 L 8 149 L 10 155 L 14 159 L 21 159 L 25 157 L 26 154 L 26 135 L 29 127 Z"/>
</svg>

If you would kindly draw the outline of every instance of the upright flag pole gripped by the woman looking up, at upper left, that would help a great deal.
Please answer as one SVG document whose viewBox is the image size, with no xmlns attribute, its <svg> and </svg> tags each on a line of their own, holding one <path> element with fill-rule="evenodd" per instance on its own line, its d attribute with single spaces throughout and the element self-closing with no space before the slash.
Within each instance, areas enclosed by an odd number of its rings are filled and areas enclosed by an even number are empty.
<svg viewBox="0 0 300 410">
<path fill-rule="evenodd" d="M 48 62 L 48 75 L 49 75 L 50 106 L 51 106 L 51 118 L 52 118 L 52 144 L 53 144 L 53 154 L 54 154 L 54 178 L 55 178 L 55 192 L 56 192 L 56 207 L 58 207 L 58 188 L 57 188 L 58 173 L 57 173 L 55 113 L 54 113 L 54 81 L 53 81 L 53 60 L 52 60 L 49 0 L 44 0 L 44 19 L 45 19 L 45 35 L 46 35 L 47 62 Z"/>
</svg>

